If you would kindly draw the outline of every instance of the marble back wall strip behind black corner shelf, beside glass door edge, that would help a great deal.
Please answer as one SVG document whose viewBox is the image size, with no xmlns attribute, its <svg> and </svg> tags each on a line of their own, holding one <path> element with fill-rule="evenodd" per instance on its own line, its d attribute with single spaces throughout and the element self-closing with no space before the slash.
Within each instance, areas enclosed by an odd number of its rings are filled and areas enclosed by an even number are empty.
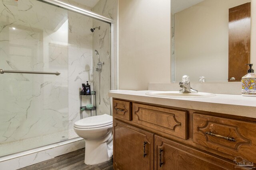
<svg viewBox="0 0 256 170">
<path fill-rule="evenodd" d="M 80 119 L 80 99 L 82 83 L 92 82 L 92 18 L 68 12 L 68 113 L 69 129 Z M 93 85 L 91 84 L 93 89 Z M 82 97 L 83 104 L 90 102 L 89 96 Z M 83 117 L 90 112 L 83 111 Z"/>
</svg>

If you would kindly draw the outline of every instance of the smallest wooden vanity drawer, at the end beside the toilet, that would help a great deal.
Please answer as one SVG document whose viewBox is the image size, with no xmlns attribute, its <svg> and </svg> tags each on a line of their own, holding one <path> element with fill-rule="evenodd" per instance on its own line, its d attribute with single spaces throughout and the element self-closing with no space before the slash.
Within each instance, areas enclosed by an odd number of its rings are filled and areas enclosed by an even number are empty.
<svg viewBox="0 0 256 170">
<path fill-rule="evenodd" d="M 113 99 L 113 116 L 125 120 L 132 120 L 131 102 Z"/>
</svg>

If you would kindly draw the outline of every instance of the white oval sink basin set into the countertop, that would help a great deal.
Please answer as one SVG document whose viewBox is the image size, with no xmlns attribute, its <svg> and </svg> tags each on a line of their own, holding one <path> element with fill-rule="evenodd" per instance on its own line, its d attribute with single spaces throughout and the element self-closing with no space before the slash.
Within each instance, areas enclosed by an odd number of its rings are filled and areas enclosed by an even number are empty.
<svg viewBox="0 0 256 170">
<path fill-rule="evenodd" d="M 181 93 L 177 91 L 156 91 L 156 92 L 147 92 L 148 96 L 156 96 L 156 97 L 167 97 L 167 98 L 208 98 L 216 96 L 213 93 Z"/>
</svg>

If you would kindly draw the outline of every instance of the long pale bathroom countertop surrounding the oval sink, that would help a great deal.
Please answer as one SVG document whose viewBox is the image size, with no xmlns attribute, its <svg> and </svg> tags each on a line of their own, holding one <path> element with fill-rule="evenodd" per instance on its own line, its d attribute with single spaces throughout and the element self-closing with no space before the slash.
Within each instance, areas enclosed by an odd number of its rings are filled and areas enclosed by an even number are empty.
<svg viewBox="0 0 256 170">
<path fill-rule="evenodd" d="M 159 104 L 164 106 L 256 118 L 256 97 L 216 94 L 216 96 L 208 98 L 167 98 L 148 96 L 146 95 L 147 92 L 154 91 L 110 90 L 108 96 L 149 104 Z"/>
</svg>

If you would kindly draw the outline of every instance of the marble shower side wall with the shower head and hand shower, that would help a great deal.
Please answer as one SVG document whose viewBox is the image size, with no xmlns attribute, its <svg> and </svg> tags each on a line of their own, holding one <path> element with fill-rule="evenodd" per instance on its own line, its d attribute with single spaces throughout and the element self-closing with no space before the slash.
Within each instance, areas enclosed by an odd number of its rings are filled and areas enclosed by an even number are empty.
<svg viewBox="0 0 256 170">
<path fill-rule="evenodd" d="M 117 20 L 117 0 L 100 0 L 93 8 L 92 11 L 111 18 L 114 21 Z M 100 61 L 104 62 L 101 72 L 101 104 L 97 100 L 97 113 L 98 115 L 110 114 L 110 98 L 108 97 L 108 91 L 110 90 L 111 81 L 111 54 L 110 54 L 110 25 L 107 23 L 93 20 L 93 27 L 100 26 L 100 30 L 96 30 L 93 33 L 92 48 L 96 49 L 100 53 Z M 115 30 L 116 31 L 116 30 Z M 99 74 L 96 72 L 98 58 L 93 54 L 93 86 L 94 90 L 99 90 Z M 98 98 L 98 95 L 97 95 Z"/>
</svg>

